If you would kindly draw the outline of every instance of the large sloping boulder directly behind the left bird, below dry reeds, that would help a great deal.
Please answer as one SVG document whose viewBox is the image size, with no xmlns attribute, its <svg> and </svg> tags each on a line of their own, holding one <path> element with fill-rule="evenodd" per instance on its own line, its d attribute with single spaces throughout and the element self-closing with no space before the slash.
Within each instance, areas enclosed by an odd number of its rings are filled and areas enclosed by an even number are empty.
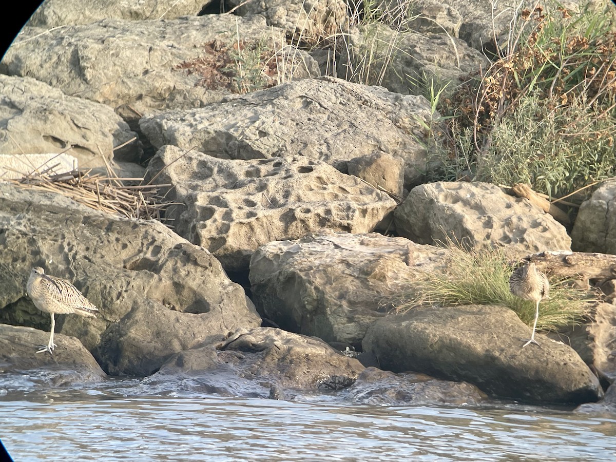
<svg viewBox="0 0 616 462">
<path fill-rule="evenodd" d="M 111 375 L 149 375 L 175 352 L 261 323 L 216 258 L 160 222 L 0 184 L 0 236 L 0 322 L 48 328 L 25 296 L 31 267 L 43 266 L 99 308 L 97 318 L 59 316 L 56 332 L 81 340 Z"/>
</svg>

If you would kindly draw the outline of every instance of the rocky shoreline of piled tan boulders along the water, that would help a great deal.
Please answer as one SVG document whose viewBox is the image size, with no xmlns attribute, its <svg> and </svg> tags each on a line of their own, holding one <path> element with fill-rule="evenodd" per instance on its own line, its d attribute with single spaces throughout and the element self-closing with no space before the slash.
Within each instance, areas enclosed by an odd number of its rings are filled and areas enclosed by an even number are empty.
<svg viewBox="0 0 616 462">
<path fill-rule="evenodd" d="M 496 185 L 425 183 L 438 140 L 424 129 L 434 113 L 423 96 L 322 76 L 321 57 L 298 49 L 284 52 L 275 86 L 214 85 L 204 69 L 238 36 L 296 33 L 278 3 L 198 16 L 202 2 L 182 2 L 164 19 L 128 20 L 111 6 L 71 18 L 68 2 L 47 0 L 25 26 L 0 63 L 0 153 L 27 162 L 72 147 L 80 169 L 143 177 L 172 202 L 172 229 L 0 182 L 3 373 L 54 371 L 43 379 L 54 386 L 139 376 L 271 399 L 613 410 L 614 386 L 601 400 L 616 379 L 616 182 L 567 230 Z M 301 16 L 303 3 L 290 3 Z M 344 2 L 316 3 L 310 33 L 348 26 Z M 474 48 L 482 20 L 447 11 L 437 13 L 466 59 L 440 67 L 457 76 L 485 59 Z M 424 49 L 445 56 L 450 43 L 430 24 Z M 554 275 L 601 287 L 605 302 L 585 325 L 524 349 L 529 326 L 502 306 L 390 312 L 384 300 L 447 268 L 436 244 L 448 235 L 502 246 L 512 261 L 533 254 Z M 57 316 L 53 355 L 34 353 L 49 332 L 25 293 L 34 266 L 100 310 Z"/>
</svg>

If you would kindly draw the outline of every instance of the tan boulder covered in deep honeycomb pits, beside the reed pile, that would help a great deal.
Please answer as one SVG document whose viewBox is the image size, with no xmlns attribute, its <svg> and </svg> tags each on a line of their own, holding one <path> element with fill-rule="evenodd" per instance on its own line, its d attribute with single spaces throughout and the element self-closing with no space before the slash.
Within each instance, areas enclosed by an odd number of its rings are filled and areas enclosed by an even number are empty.
<svg viewBox="0 0 616 462">
<path fill-rule="evenodd" d="M 302 156 L 224 160 L 165 146 L 150 163 L 154 176 L 182 203 L 166 214 L 176 232 L 232 271 L 248 269 L 270 241 L 324 228 L 369 232 L 395 207 L 386 193 Z"/>
</svg>

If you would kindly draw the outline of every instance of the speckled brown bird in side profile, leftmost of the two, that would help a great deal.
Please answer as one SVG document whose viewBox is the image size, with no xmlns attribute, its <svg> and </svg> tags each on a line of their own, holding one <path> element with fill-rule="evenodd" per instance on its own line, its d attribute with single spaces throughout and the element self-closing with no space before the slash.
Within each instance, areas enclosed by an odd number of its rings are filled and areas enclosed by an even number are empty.
<svg viewBox="0 0 616 462">
<path fill-rule="evenodd" d="M 87 317 L 96 317 L 99 310 L 70 282 L 45 274 L 40 266 L 30 271 L 30 278 L 26 284 L 28 296 L 39 310 L 51 314 L 51 333 L 49 343 L 37 353 L 49 352 L 53 354 L 55 314 L 79 314 Z"/>
</svg>

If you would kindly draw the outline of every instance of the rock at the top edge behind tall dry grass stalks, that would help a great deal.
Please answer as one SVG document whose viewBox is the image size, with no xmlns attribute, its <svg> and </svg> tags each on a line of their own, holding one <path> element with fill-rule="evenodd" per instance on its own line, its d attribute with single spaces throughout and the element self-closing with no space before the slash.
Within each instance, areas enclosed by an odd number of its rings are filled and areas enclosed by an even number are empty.
<svg viewBox="0 0 616 462">
<path fill-rule="evenodd" d="M 230 0 L 244 17 L 262 15 L 268 26 L 283 28 L 296 40 L 316 43 L 346 31 L 347 6 L 343 0 Z"/>
</svg>

